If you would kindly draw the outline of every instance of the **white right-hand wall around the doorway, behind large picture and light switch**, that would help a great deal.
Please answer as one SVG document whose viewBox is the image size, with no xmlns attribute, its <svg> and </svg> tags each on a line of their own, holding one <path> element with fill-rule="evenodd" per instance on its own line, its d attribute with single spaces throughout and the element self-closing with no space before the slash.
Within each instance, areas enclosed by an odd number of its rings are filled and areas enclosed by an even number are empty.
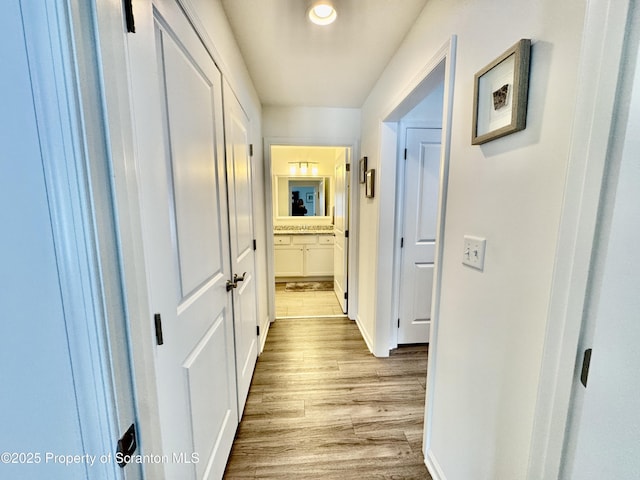
<svg viewBox="0 0 640 480">
<path fill-rule="evenodd" d="M 448 480 L 526 476 L 551 278 L 575 107 L 584 2 L 430 1 L 362 108 L 362 154 L 381 158 L 381 120 L 451 34 L 458 36 L 451 164 L 435 362 L 431 438 L 434 474 Z M 531 38 L 527 128 L 471 145 L 473 77 L 520 38 Z M 388 218 L 361 198 L 360 292 L 378 290 L 364 259 L 388 255 Z M 462 238 L 487 239 L 484 272 L 461 264 Z M 373 262 L 372 262 L 373 263 Z M 372 302 L 361 325 L 386 342 Z M 384 319 L 382 319 L 384 321 Z M 437 471 L 435 471 L 437 470 Z M 435 478 L 435 477 L 434 477 Z"/>
</svg>

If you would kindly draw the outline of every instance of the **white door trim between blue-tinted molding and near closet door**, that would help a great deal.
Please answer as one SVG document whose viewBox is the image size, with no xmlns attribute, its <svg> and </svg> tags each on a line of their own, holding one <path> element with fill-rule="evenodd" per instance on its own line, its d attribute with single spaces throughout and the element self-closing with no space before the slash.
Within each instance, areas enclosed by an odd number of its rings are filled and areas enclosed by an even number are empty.
<svg viewBox="0 0 640 480">
<path fill-rule="evenodd" d="M 155 328 L 150 311 L 147 268 L 140 217 L 138 144 L 134 136 L 135 77 L 155 59 L 154 21 L 151 0 L 133 3 L 137 32 L 126 34 L 122 9 L 114 2 L 94 2 L 96 43 L 103 77 L 104 136 L 112 177 L 111 202 L 115 212 L 120 258 L 120 282 L 127 324 L 125 339 L 130 352 L 130 372 L 134 382 L 138 443 L 141 454 L 163 451 L 155 372 Z M 149 49 L 153 49 L 151 52 Z M 139 82 L 138 82 L 139 83 Z M 122 333 L 122 332 L 121 332 Z M 145 463 L 144 478 L 163 478 L 161 463 Z"/>
</svg>

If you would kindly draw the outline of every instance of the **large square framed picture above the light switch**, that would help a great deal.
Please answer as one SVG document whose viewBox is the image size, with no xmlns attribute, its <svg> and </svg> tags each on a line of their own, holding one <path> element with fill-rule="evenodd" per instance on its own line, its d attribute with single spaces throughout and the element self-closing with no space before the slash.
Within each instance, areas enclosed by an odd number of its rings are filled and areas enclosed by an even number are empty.
<svg viewBox="0 0 640 480">
<path fill-rule="evenodd" d="M 531 40 L 522 39 L 475 75 L 471 144 L 524 130 Z"/>
</svg>

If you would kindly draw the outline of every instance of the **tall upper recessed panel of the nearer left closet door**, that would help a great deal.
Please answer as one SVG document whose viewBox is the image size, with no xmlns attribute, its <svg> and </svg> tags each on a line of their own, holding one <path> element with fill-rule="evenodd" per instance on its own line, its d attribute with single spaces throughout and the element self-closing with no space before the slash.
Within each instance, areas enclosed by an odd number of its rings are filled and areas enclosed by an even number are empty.
<svg viewBox="0 0 640 480">
<path fill-rule="evenodd" d="M 220 222 L 226 219 L 217 211 L 218 179 L 211 161 L 215 158 L 211 130 L 215 102 L 210 79 L 183 50 L 165 41 L 163 53 L 176 237 L 181 290 L 186 297 L 220 274 L 225 254 Z"/>
</svg>

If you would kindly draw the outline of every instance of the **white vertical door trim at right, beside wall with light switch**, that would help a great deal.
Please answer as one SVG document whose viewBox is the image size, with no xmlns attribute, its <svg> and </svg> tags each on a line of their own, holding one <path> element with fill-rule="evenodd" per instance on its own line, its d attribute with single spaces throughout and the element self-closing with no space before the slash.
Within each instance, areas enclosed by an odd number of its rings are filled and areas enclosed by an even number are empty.
<svg viewBox="0 0 640 480">
<path fill-rule="evenodd" d="M 624 64 L 626 0 L 587 3 L 574 127 L 527 478 L 558 478 L 567 435 L 598 205 Z M 604 21 L 603 21 L 604 20 Z M 594 74 L 595 72 L 595 74 Z"/>
</svg>

